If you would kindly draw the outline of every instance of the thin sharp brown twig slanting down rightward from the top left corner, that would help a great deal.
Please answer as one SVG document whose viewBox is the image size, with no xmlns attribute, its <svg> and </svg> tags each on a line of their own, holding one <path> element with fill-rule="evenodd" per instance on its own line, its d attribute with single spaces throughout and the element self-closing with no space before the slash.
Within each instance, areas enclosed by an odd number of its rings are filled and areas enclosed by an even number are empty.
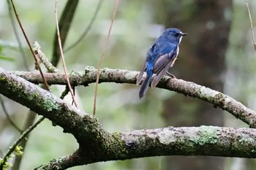
<svg viewBox="0 0 256 170">
<path fill-rule="evenodd" d="M 16 18 L 17 18 L 17 20 L 18 20 L 19 25 L 20 25 L 20 29 L 21 29 L 21 31 L 23 32 L 23 35 L 24 35 L 24 37 L 25 37 L 25 39 L 26 39 L 26 42 L 27 42 L 28 45 L 29 45 L 29 50 L 31 51 L 31 53 L 32 53 L 32 55 L 33 55 L 33 57 L 34 57 L 35 64 L 36 64 L 37 68 L 39 69 L 39 72 L 40 72 L 40 74 L 41 74 L 41 76 L 42 76 L 42 80 L 44 80 L 45 88 L 46 88 L 47 90 L 49 90 L 49 85 L 48 85 L 48 83 L 47 83 L 46 80 L 45 80 L 45 76 L 44 76 L 44 74 L 42 73 L 42 69 L 41 69 L 40 66 L 39 66 L 39 63 L 38 63 L 38 61 L 37 61 L 37 57 L 36 57 L 36 55 L 34 55 L 34 52 L 33 52 L 32 47 L 31 47 L 31 45 L 30 45 L 28 36 L 26 36 L 26 33 L 25 33 L 25 31 L 24 31 L 24 29 L 23 29 L 23 26 L 22 26 L 22 24 L 21 24 L 21 22 L 20 22 L 20 18 L 19 18 L 19 16 L 18 16 L 18 13 L 17 13 L 17 11 L 16 11 L 16 9 L 15 9 L 15 5 L 14 5 L 14 3 L 13 3 L 12 0 L 10 0 L 10 1 L 11 1 L 11 3 L 12 3 L 13 11 L 15 12 L 15 16 L 16 16 Z"/>
</svg>

